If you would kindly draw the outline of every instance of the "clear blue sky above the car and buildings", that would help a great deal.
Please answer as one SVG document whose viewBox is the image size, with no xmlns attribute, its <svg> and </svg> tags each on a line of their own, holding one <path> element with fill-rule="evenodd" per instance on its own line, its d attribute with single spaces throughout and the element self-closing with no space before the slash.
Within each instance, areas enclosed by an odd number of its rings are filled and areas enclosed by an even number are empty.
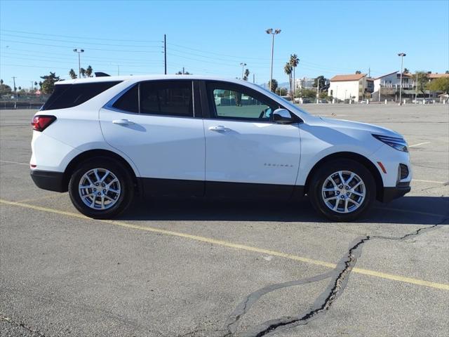
<svg viewBox="0 0 449 337">
<path fill-rule="evenodd" d="M 49 72 L 62 79 L 81 67 L 108 74 L 163 74 L 167 70 L 288 81 L 296 78 L 401 69 L 449 69 L 449 1 L 8 1 L 0 0 L 0 77 L 29 88 Z"/>
</svg>

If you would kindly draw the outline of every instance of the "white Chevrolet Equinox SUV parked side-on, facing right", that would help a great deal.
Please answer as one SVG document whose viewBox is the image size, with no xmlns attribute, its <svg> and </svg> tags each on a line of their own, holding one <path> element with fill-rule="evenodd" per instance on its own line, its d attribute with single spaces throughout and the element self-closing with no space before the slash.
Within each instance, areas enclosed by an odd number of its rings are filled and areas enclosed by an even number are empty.
<svg viewBox="0 0 449 337">
<path fill-rule="evenodd" d="M 332 220 L 410 191 L 394 131 L 314 117 L 246 81 L 96 77 L 56 84 L 32 121 L 31 176 L 93 218 L 150 197 L 300 199 Z"/>
</svg>

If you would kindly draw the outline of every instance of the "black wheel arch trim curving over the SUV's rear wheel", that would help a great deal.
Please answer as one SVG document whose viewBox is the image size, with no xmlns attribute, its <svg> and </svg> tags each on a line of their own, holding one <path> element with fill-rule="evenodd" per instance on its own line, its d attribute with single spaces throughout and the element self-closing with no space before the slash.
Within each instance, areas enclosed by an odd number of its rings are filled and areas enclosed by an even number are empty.
<svg viewBox="0 0 449 337">
<path fill-rule="evenodd" d="M 62 180 L 62 184 L 65 187 L 65 192 L 68 190 L 69 186 L 69 180 L 72 176 L 72 173 L 75 171 L 76 167 L 79 166 L 79 164 L 83 163 L 84 161 L 87 161 L 88 159 L 93 158 L 106 158 L 106 159 L 113 159 L 117 161 L 119 164 L 122 164 L 123 167 L 128 171 L 131 178 L 133 179 L 133 182 L 135 184 L 135 187 L 137 187 L 138 192 L 141 192 L 141 188 L 138 184 L 138 178 L 135 174 L 135 171 L 133 167 L 128 163 L 126 159 L 121 157 L 120 154 L 116 154 L 116 152 L 112 152 L 110 150 L 104 150 L 104 149 L 96 149 L 96 150 L 88 150 L 85 152 L 81 152 L 76 157 L 74 157 L 69 164 L 67 165 L 65 171 L 64 171 L 64 177 Z"/>
</svg>

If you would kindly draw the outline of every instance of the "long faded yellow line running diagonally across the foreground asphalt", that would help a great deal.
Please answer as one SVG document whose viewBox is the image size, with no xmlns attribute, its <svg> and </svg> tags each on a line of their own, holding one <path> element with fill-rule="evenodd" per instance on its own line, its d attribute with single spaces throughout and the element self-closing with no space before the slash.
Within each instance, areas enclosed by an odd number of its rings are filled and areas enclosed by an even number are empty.
<svg viewBox="0 0 449 337">
<path fill-rule="evenodd" d="M 22 204 L 20 202 L 15 202 L 15 201 L 8 201 L 8 200 L 0 199 L 0 203 L 11 205 L 11 206 L 20 206 L 20 207 L 24 207 L 26 209 L 34 209 L 36 211 L 43 211 L 43 212 L 48 212 L 48 213 L 56 213 L 56 214 L 60 214 L 60 215 L 64 215 L 64 216 L 71 216 L 73 218 L 92 220 L 91 218 L 83 216 L 79 213 L 59 211 L 57 209 L 48 209 L 46 207 L 34 206 L 34 205 L 30 205 L 30 204 Z M 311 265 L 320 265 L 322 267 L 328 267 L 328 268 L 336 267 L 335 263 L 328 263 L 326 261 L 314 260 L 313 258 L 304 258 L 302 256 L 297 256 L 297 255 L 288 254 L 288 253 L 282 253 L 280 251 L 272 251 L 269 249 L 261 249 L 261 248 L 257 248 L 257 247 L 253 247 L 253 246 L 246 246 L 244 244 L 234 244 L 232 242 L 212 239 L 210 237 L 200 237 L 198 235 L 186 234 L 186 233 L 181 233 L 181 232 L 173 232 L 172 230 L 162 230 L 160 228 L 146 227 L 146 226 L 141 226 L 141 225 L 133 225 L 131 223 L 123 223 L 121 221 L 116 221 L 116 220 L 93 220 L 93 221 L 98 221 L 101 223 L 109 223 L 111 225 L 130 228 L 133 230 L 143 230 L 146 232 L 155 232 L 155 233 L 159 233 L 159 234 L 171 235 L 174 237 L 183 237 L 185 239 L 192 239 L 192 240 L 196 240 L 199 242 L 207 242 L 208 244 L 216 244 L 218 246 L 225 246 L 225 247 L 234 248 L 234 249 L 241 249 L 243 251 L 254 251 L 256 253 L 263 253 L 263 254 L 267 254 L 267 255 L 271 255 L 271 256 L 278 256 L 280 258 L 288 258 L 290 260 L 309 263 Z M 387 274 L 384 272 L 377 272 L 375 270 L 368 270 L 368 269 L 363 269 L 363 268 L 354 268 L 352 271 L 356 272 L 358 274 L 380 277 L 382 279 L 391 279 L 394 281 L 405 282 L 408 284 L 427 286 L 427 287 L 434 288 L 434 289 L 449 290 L 449 284 L 429 282 L 424 279 L 415 279 L 413 277 L 403 277 L 400 275 Z"/>
</svg>

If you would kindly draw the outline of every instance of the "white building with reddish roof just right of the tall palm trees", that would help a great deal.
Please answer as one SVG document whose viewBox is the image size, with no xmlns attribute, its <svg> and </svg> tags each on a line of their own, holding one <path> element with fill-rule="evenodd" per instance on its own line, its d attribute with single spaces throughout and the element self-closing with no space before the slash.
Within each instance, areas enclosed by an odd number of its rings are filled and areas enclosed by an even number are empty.
<svg viewBox="0 0 449 337">
<path fill-rule="evenodd" d="M 367 88 L 366 74 L 337 75 L 330 79 L 328 95 L 338 100 L 353 98 L 357 102 Z"/>
</svg>

